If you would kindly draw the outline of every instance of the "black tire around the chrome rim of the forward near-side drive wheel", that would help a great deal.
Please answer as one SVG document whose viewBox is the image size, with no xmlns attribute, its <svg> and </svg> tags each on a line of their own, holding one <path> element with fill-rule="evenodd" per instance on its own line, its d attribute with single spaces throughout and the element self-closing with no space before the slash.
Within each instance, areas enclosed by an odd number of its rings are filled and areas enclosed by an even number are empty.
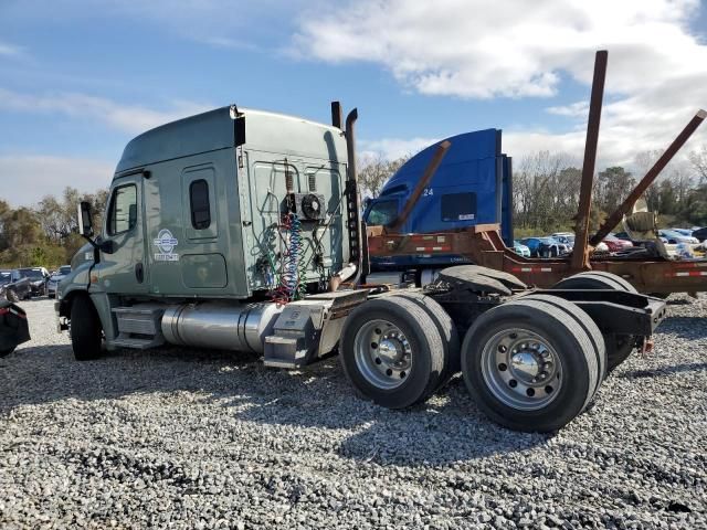
<svg viewBox="0 0 707 530">
<path fill-rule="evenodd" d="M 362 348 L 366 343 L 366 329 L 381 320 L 398 328 L 410 349 L 411 365 L 403 373 L 404 381 L 390 380 L 391 384 L 397 384 L 395 388 L 382 388 L 372 382 L 371 377 L 366 375 L 365 361 L 360 360 L 370 353 L 357 356 L 357 347 Z M 351 311 L 341 333 L 339 349 L 344 373 L 357 394 L 389 409 L 404 409 L 426 400 L 436 389 L 444 369 L 443 340 L 434 320 L 416 301 L 400 296 L 368 300 Z M 381 364 L 379 361 L 377 359 L 377 363 Z"/>
</svg>

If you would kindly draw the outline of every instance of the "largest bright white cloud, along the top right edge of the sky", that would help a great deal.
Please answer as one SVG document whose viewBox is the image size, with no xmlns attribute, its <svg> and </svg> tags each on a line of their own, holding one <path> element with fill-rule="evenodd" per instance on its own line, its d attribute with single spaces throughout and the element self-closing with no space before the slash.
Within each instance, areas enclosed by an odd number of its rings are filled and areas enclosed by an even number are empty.
<svg viewBox="0 0 707 530">
<path fill-rule="evenodd" d="M 697 0 L 359 0 L 308 13 L 295 43 L 324 61 L 382 64 L 423 94 L 481 98 L 550 96 L 561 73 L 588 83 L 592 51 L 608 47 L 613 89 L 625 92 L 659 71 L 704 70 L 707 49 L 685 30 L 698 8 Z"/>
</svg>

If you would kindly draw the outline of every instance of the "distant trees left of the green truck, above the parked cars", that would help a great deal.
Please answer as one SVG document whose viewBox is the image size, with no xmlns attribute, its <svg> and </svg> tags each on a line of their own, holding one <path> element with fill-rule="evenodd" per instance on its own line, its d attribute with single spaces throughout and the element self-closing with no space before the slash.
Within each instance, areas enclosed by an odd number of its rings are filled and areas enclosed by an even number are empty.
<svg viewBox="0 0 707 530">
<path fill-rule="evenodd" d="M 78 203 L 91 202 L 94 226 L 99 226 L 107 194 L 107 190 L 81 193 L 67 187 L 60 198 L 45 195 L 33 206 L 17 209 L 0 199 L 0 268 L 70 263 L 85 243 L 78 235 Z"/>
</svg>

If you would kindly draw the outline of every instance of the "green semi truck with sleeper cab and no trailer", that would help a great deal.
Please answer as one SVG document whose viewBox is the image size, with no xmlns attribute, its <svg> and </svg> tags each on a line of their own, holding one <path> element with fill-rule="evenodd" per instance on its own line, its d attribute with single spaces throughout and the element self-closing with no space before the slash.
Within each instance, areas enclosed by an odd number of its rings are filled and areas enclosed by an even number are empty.
<svg viewBox="0 0 707 530">
<path fill-rule="evenodd" d="M 352 110 L 331 125 L 232 105 L 133 139 L 103 226 L 57 289 L 74 356 L 166 343 L 303 367 L 338 352 L 355 391 L 403 409 L 460 371 L 478 406 L 557 430 L 650 336 L 662 300 L 612 275 L 531 289 L 477 266 L 424 289 L 367 287 Z"/>
</svg>

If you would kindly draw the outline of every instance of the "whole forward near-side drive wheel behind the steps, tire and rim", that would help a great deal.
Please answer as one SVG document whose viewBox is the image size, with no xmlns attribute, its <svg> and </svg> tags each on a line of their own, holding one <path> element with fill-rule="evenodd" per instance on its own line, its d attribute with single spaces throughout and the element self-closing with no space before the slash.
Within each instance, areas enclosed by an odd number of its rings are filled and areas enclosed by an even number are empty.
<svg viewBox="0 0 707 530">
<path fill-rule="evenodd" d="M 347 379 L 363 399 L 389 409 L 426 400 L 444 368 L 444 346 L 430 315 L 399 296 L 366 301 L 347 318 L 340 341 Z"/>
</svg>

